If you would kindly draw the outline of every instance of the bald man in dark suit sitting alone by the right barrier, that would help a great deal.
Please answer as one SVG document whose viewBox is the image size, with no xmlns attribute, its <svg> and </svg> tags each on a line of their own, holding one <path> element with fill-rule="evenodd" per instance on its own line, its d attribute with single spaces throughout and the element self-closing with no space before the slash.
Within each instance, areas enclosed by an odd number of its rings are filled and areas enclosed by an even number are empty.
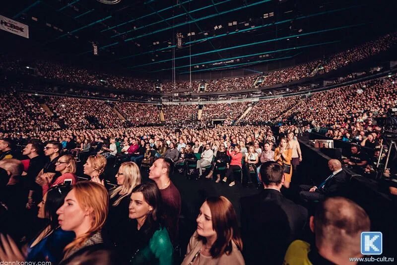
<svg viewBox="0 0 397 265">
<path fill-rule="evenodd" d="M 306 201 L 324 200 L 327 197 L 343 193 L 347 185 L 346 173 L 342 170 L 339 160 L 330 159 L 328 167 L 332 174 L 324 179 L 319 186 L 300 185 L 300 197 Z"/>
</svg>

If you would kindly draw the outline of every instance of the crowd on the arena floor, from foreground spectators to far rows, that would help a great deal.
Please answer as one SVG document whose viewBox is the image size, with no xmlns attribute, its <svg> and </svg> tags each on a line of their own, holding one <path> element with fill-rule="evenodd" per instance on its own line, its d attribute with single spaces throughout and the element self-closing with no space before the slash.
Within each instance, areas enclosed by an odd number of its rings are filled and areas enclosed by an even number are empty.
<svg viewBox="0 0 397 265">
<path fill-rule="evenodd" d="M 0 260 L 244 265 L 362 257 L 360 236 L 370 219 L 355 202 L 334 198 L 347 185 L 338 160 L 328 162 L 331 180 L 299 186 L 301 204 L 321 201 L 314 217 L 284 197 L 305 153 L 296 127 L 281 128 L 278 138 L 268 126 L 76 128 L 29 138 L 0 133 L 0 231 L 8 234 L 0 238 Z M 178 171 L 188 181 L 213 179 L 217 187 L 251 186 L 261 194 L 241 199 L 241 225 L 236 205 L 223 196 L 200 201 L 197 212 L 185 209 L 194 217 L 182 218 Z M 188 223 L 191 230 L 181 229 Z M 340 244 L 343 251 L 326 251 Z"/>
</svg>

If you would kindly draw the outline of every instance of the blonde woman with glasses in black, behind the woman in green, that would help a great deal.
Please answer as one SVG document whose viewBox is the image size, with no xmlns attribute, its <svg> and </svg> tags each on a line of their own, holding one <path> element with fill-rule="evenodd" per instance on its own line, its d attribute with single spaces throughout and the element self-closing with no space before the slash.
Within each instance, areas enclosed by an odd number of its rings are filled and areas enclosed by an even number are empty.
<svg viewBox="0 0 397 265">
<path fill-rule="evenodd" d="M 105 230 L 119 254 L 126 255 L 126 243 L 129 240 L 126 231 L 130 226 L 128 207 L 133 188 L 141 183 L 139 167 L 134 162 L 121 164 L 116 179 L 118 186 L 109 191 L 111 206 Z"/>
</svg>

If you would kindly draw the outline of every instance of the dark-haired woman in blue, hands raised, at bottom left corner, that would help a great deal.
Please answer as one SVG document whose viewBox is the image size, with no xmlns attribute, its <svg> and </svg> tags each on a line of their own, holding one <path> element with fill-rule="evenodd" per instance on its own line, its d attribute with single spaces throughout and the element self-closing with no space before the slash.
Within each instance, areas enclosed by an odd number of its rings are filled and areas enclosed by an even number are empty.
<svg viewBox="0 0 397 265">
<path fill-rule="evenodd" d="M 67 193 L 70 191 L 69 185 L 60 184 L 48 190 L 43 200 L 38 204 L 39 212 L 37 217 L 48 220 L 48 225 L 26 246 L 24 253 L 12 248 L 15 243 L 8 237 L 1 239 L 1 246 L 4 250 L 13 250 L 14 253 L 0 251 L 1 261 L 26 261 L 41 262 L 49 261 L 58 264 L 64 256 L 64 248 L 73 241 L 74 232 L 64 231 L 58 224 L 57 210 L 64 203 Z M 26 259 L 24 259 L 26 257 Z"/>
</svg>

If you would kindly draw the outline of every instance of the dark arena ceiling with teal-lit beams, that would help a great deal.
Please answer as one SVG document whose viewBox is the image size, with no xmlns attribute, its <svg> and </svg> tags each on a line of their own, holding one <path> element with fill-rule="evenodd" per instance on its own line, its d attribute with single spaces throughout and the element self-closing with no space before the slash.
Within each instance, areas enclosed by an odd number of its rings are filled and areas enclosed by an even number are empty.
<svg viewBox="0 0 397 265">
<path fill-rule="evenodd" d="M 394 0 L 18 0 L 0 9 L 52 55 L 153 76 L 326 54 L 393 30 L 395 12 Z"/>
</svg>

